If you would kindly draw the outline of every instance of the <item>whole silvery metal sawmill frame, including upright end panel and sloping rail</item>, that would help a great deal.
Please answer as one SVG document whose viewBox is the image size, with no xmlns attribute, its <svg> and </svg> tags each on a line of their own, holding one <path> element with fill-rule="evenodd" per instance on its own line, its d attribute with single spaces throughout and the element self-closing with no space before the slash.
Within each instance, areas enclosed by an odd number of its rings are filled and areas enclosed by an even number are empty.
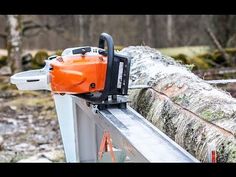
<svg viewBox="0 0 236 177">
<path fill-rule="evenodd" d="M 54 99 L 67 162 L 97 162 L 104 131 L 131 162 L 199 162 L 129 106 L 97 110 L 75 96 Z"/>
</svg>

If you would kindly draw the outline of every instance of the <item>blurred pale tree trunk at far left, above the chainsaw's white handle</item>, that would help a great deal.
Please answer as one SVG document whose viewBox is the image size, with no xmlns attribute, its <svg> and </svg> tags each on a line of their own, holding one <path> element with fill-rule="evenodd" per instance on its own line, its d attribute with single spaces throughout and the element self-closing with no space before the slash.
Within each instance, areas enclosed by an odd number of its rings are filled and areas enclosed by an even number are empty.
<svg viewBox="0 0 236 177">
<path fill-rule="evenodd" d="M 8 65 L 12 73 L 22 70 L 21 53 L 22 53 L 22 24 L 20 15 L 7 15 L 8 25 Z"/>
</svg>

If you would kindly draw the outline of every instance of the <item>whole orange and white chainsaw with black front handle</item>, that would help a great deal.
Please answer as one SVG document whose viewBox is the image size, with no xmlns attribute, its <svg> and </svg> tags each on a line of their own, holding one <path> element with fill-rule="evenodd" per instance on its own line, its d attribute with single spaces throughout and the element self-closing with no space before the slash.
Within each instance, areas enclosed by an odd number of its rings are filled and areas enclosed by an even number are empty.
<svg viewBox="0 0 236 177">
<path fill-rule="evenodd" d="M 116 53 L 112 37 L 102 33 L 98 47 L 67 48 L 61 56 L 47 58 L 44 68 L 11 76 L 11 83 L 19 90 L 72 94 L 100 109 L 126 108 L 129 71 L 130 59 Z"/>
</svg>

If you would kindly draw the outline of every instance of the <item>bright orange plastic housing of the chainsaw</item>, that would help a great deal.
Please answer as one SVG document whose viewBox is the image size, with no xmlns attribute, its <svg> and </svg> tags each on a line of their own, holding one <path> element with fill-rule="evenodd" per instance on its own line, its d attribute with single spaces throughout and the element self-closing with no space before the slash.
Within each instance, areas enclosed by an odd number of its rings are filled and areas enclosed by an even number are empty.
<svg viewBox="0 0 236 177">
<path fill-rule="evenodd" d="M 81 94 L 104 89 L 107 70 L 105 56 L 63 56 L 52 62 L 51 67 L 51 90 L 54 93 Z"/>
</svg>

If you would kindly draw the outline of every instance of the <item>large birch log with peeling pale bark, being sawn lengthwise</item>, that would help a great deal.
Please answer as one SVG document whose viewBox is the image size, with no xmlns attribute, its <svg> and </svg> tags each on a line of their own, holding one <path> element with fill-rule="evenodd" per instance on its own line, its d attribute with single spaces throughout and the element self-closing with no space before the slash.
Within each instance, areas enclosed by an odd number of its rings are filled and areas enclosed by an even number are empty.
<svg viewBox="0 0 236 177">
<path fill-rule="evenodd" d="M 130 106 L 202 162 L 217 150 L 217 162 L 236 162 L 236 99 L 187 67 L 145 47 L 121 51 L 131 58 Z"/>
</svg>

